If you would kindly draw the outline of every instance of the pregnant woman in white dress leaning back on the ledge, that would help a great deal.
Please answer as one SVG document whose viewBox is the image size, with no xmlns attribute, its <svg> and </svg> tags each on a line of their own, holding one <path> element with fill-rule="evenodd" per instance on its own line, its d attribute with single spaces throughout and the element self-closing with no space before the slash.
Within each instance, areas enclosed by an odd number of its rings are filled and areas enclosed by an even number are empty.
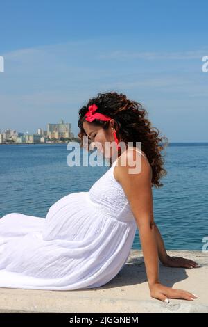
<svg viewBox="0 0 208 327">
<path fill-rule="evenodd" d="M 73 290 L 110 282 L 128 260 L 138 228 L 150 296 L 193 300 L 194 294 L 159 281 L 158 262 L 193 268 L 196 262 L 170 257 L 153 219 L 152 187 L 166 170 L 162 138 L 139 102 L 116 92 L 98 93 L 79 111 L 83 136 L 99 144 L 110 168 L 88 192 L 70 193 L 45 218 L 20 213 L 0 219 L 0 287 Z M 141 142 L 142 151 L 136 146 Z M 116 144 L 113 147 L 106 144 Z M 127 147 L 123 152 L 120 145 Z M 129 146 L 131 143 L 132 146 Z M 116 153 L 116 159 L 113 160 Z M 125 164 L 123 164 L 125 162 Z M 141 163 L 137 173 L 130 162 Z"/>
</svg>

